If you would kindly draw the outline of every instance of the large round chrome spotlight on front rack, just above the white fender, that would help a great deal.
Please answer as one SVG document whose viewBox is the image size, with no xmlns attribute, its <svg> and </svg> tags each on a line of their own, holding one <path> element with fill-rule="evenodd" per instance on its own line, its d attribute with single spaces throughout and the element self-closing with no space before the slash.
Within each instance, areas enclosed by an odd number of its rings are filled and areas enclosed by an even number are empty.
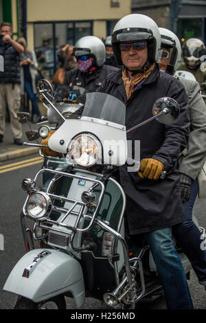
<svg viewBox="0 0 206 323">
<path fill-rule="evenodd" d="M 41 219 L 49 216 L 52 211 L 52 201 L 50 197 L 43 192 L 35 192 L 30 195 L 27 201 L 27 213 L 33 219 Z"/>
</svg>

